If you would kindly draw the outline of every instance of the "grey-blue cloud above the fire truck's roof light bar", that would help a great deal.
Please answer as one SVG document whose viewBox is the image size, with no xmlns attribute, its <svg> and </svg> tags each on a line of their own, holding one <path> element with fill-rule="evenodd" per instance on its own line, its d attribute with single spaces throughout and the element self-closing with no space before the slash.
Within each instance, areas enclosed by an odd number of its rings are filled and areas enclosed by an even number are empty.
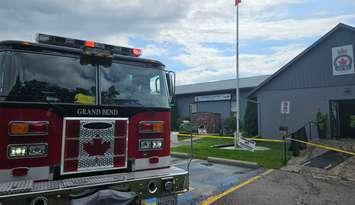
<svg viewBox="0 0 355 205">
<path fill-rule="evenodd" d="M 184 16 L 185 1 L 3 0 L 0 38 L 32 40 L 37 32 L 100 41 L 113 35 L 149 37 Z"/>
</svg>

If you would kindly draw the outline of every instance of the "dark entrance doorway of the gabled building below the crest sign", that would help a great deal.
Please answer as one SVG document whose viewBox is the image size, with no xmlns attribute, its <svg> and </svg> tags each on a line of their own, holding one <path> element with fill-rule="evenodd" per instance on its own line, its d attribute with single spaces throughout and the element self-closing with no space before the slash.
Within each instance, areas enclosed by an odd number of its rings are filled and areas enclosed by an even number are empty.
<svg viewBox="0 0 355 205">
<path fill-rule="evenodd" d="M 339 102 L 340 136 L 355 138 L 355 100 Z"/>
</svg>

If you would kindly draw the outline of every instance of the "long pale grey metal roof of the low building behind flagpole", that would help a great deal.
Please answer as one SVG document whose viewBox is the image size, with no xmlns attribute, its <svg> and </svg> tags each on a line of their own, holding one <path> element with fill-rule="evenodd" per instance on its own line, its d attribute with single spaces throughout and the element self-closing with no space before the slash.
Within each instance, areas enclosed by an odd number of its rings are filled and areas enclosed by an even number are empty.
<svg viewBox="0 0 355 205">
<path fill-rule="evenodd" d="M 254 77 L 240 78 L 239 87 L 242 88 L 255 88 L 263 82 L 268 75 L 260 75 Z M 220 90 L 233 90 L 236 89 L 236 79 L 220 80 L 205 83 L 195 83 L 189 85 L 176 86 L 176 95 L 202 93 Z"/>
</svg>

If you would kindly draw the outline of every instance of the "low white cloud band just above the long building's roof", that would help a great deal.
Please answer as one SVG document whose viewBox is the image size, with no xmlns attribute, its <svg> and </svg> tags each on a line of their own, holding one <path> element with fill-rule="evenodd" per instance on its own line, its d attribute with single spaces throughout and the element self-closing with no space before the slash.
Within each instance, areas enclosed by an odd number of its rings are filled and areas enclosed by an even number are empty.
<svg viewBox="0 0 355 205">
<path fill-rule="evenodd" d="M 290 44 L 273 47 L 273 52 L 270 54 L 241 54 L 239 65 L 240 76 L 248 77 L 271 74 L 304 49 L 305 46 L 302 44 Z M 180 58 L 188 64 L 193 64 L 193 62 L 190 62 L 192 58 L 186 58 L 185 56 L 181 56 Z M 177 84 L 235 78 L 235 56 L 211 57 L 210 61 L 207 59 L 205 62 L 195 62 L 195 66 L 178 72 Z"/>
</svg>

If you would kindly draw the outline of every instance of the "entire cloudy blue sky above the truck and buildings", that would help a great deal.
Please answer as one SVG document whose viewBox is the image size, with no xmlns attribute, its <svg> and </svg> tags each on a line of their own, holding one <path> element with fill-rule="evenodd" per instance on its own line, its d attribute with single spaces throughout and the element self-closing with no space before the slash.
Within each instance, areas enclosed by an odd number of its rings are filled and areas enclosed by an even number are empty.
<svg viewBox="0 0 355 205">
<path fill-rule="evenodd" d="M 242 0 L 240 77 L 272 74 L 338 23 L 355 0 Z M 235 78 L 234 0 L 1 0 L 0 40 L 36 33 L 141 48 L 177 84 Z"/>
</svg>

